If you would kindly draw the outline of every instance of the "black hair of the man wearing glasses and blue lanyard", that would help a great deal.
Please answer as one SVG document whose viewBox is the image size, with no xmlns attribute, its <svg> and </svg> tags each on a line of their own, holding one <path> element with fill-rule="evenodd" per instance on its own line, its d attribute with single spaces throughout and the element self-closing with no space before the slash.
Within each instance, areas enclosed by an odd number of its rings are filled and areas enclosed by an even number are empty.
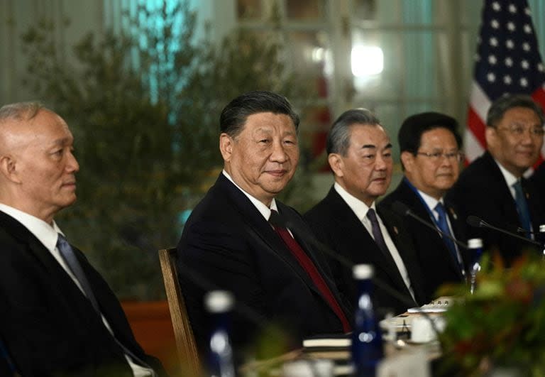
<svg viewBox="0 0 545 377">
<path fill-rule="evenodd" d="M 452 116 L 433 111 L 414 114 L 403 121 L 400 132 L 397 133 L 397 143 L 400 152 L 410 152 L 416 155 L 422 142 L 422 134 L 433 129 L 447 129 L 451 131 L 458 149 L 462 146 L 462 137 L 458 133 L 458 122 Z"/>
</svg>

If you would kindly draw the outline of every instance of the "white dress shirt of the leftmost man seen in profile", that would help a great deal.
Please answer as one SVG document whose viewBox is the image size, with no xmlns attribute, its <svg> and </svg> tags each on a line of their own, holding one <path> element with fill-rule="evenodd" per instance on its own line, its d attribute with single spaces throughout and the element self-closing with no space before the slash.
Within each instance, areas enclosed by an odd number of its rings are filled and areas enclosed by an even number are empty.
<svg viewBox="0 0 545 377">
<path fill-rule="evenodd" d="M 82 291 L 82 294 L 85 295 L 82 285 L 79 284 L 79 281 L 72 273 L 72 270 L 70 270 L 70 268 L 67 266 L 65 259 L 62 258 L 62 256 L 60 255 L 60 251 L 57 248 L 57 233 L 60 233 L 63 236 L 65 234 L 62 233 L 55 221 L 53 221 L 53 224 L 50 225 L 47 222 L 44 222 L 42 219 L 38 219 L 38 217 L 34 217 L 31 214 L 27 214 L 26 212 L 22 212 L 16 208 L 10 207 L 9 205 L 2 203 L 0 203 L 0 211 L 4 212 L 5 214 L 9 214 L 9 216 L 13 217 L 13 219 L 16 219 L 18 222 L 23 224 L 23 226 L 25 226 L 26 229 L 28 229 L 28 231 L 30 231 L 38 239 L 38 241 L 40 241 L 43 246 L 48 249 L 48 251 L 53 255 L 55 260 L 60 264 L 60 266 L 62 266 L 62 269 L 66 271 L 66 273 L 77 285 L 79 290 Z M 108 329 L 110 334 L 114 336 L 114 332 L 112 331 L 110 324 L 108 323 L 104 315 L 101 314 L 101 318 L 104 326 L 106 326 L 106 329 Z M 153 371 L 148 368 L 144 368 L 143 366 L 140 366 L 138 364 L 135 364 L 130 356 L 125 355 L 125 358 L 127 359 L 128 365 L 131 366 L 135 377 L 153 376 Z"/>
</svg>

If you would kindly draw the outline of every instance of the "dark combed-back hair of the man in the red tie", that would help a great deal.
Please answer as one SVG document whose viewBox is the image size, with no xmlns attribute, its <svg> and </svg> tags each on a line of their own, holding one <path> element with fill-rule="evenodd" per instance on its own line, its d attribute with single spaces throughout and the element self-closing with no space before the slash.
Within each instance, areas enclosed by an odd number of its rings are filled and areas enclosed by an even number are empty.
<svg viewBox="0 0 545 377">
<path fill-rule="evenodd" d="M 256 90 L 241 94 L 224 107 L 219 116 L 219 129 L 221 133 L 235 137 L 241 133 L 248 116 L 269 112 L 286 114 L 292 119 L 295 129 L 299 127 L 299 116 L 286 97 L 265 90 Z"/>
</svg>

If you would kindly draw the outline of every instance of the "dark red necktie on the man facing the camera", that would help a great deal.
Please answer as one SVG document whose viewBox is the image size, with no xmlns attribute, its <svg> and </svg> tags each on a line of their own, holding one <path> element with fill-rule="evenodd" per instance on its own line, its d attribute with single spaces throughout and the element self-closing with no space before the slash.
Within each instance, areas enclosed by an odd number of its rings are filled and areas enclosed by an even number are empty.
<svg viewBox="0 0 545 377">
<path fill-rule="evenodd" d="M 307 272 L 309 277 L 312 279 L 314 285 L 316 285 L 316 288 L 318 288 L 321 295 L 325 297 L 326 301 L 329 303 L 329 306 L 343 324 L 343 331 L 351 331 L 351 326 L 348 322 L 348 319 L 346 319 L 343 310 L 341 310 L 341 307 L 338 305 L 335 296 L 333 295 L 333 293 L 331 293 L 331 290 L 327 286 L 324 278 L 320 275 L 318 269 L 316 268 L 316 266 L 314 266 L 314 263 L 312 263 L 312 260 L 309 258 L 309 256 L 307 256 L 307 253 L 304 252 L 303 248 L 299 245 L 299 243 L 292 237 L 290 232 L 287 231 L 287 229 L 283 225 L 284 222 L 282 221 L 282 219 L 280 219 L 280 214 L 278 214 L 278 212 L 276 212 L 274 209 L 271 209 L 270 211 L 269 222 L 275 229 L 276 233 L 280 236 L 282 241 L 284 241 L 286 246 L 290 249 L 295 259 L 297 259 L 299 265 L 304 269 L 305 272 Z"/>
</svg>

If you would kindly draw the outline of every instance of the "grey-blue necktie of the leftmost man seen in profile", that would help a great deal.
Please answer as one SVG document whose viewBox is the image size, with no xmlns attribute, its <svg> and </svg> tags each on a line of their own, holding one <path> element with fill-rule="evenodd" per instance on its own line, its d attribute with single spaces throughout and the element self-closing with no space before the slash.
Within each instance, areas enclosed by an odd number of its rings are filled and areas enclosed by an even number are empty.
<svg viewBox="0 0 545 377">
<path fill-rule="evenodd" d="M 79 264 L 79 261 L 77 260 L 76 254 L 74 253 L 74 249 L 68 241 L 65 239 L 62 234 L 58 234 L 57 238 L 57 248 L 60 251 L 60 255 L 67 263 L 68 267 L 70 268 L 70 271 L 74 274 L 77 281 L 79 281 L 79 285 L 82 286 L 82 290 L 84 291 L 85 295 L 91 301 L 91 304 L 94 307 L 94 310 L 97 311 L 97 314 L 101 317 L 101 312 L 99 309 L 99 305 L 97 303 L 97 299 L 94 297 L 93 290 L 91 289 L 91 285 L 89 285 L 89 280 L 87 280 L 87 276 L 85 275 L 82 265 Z M 126 346 L 124 346 L 121 342 L 119 342 L 119 339 L 117 339 L 114 334 L 111 334 L 112 338 L 114 338 L 114 341 L 117 343 L 118 346 L 123 349 L 123 352 L 127 354 L 128 356 L 131 356 L 133 361 L 135 361 L 137 364 L 140 364 L 141 366 L 145 366 L 146 368 L 149 368 L 152 371 L 152 376 L 155 376 L 155 371 L 153 371 L 153 368 L 149 366 L 148 363 L 140 359 L 138 356 L 133 354 L 133 352 L 128 349 Z"/>
</svg>

